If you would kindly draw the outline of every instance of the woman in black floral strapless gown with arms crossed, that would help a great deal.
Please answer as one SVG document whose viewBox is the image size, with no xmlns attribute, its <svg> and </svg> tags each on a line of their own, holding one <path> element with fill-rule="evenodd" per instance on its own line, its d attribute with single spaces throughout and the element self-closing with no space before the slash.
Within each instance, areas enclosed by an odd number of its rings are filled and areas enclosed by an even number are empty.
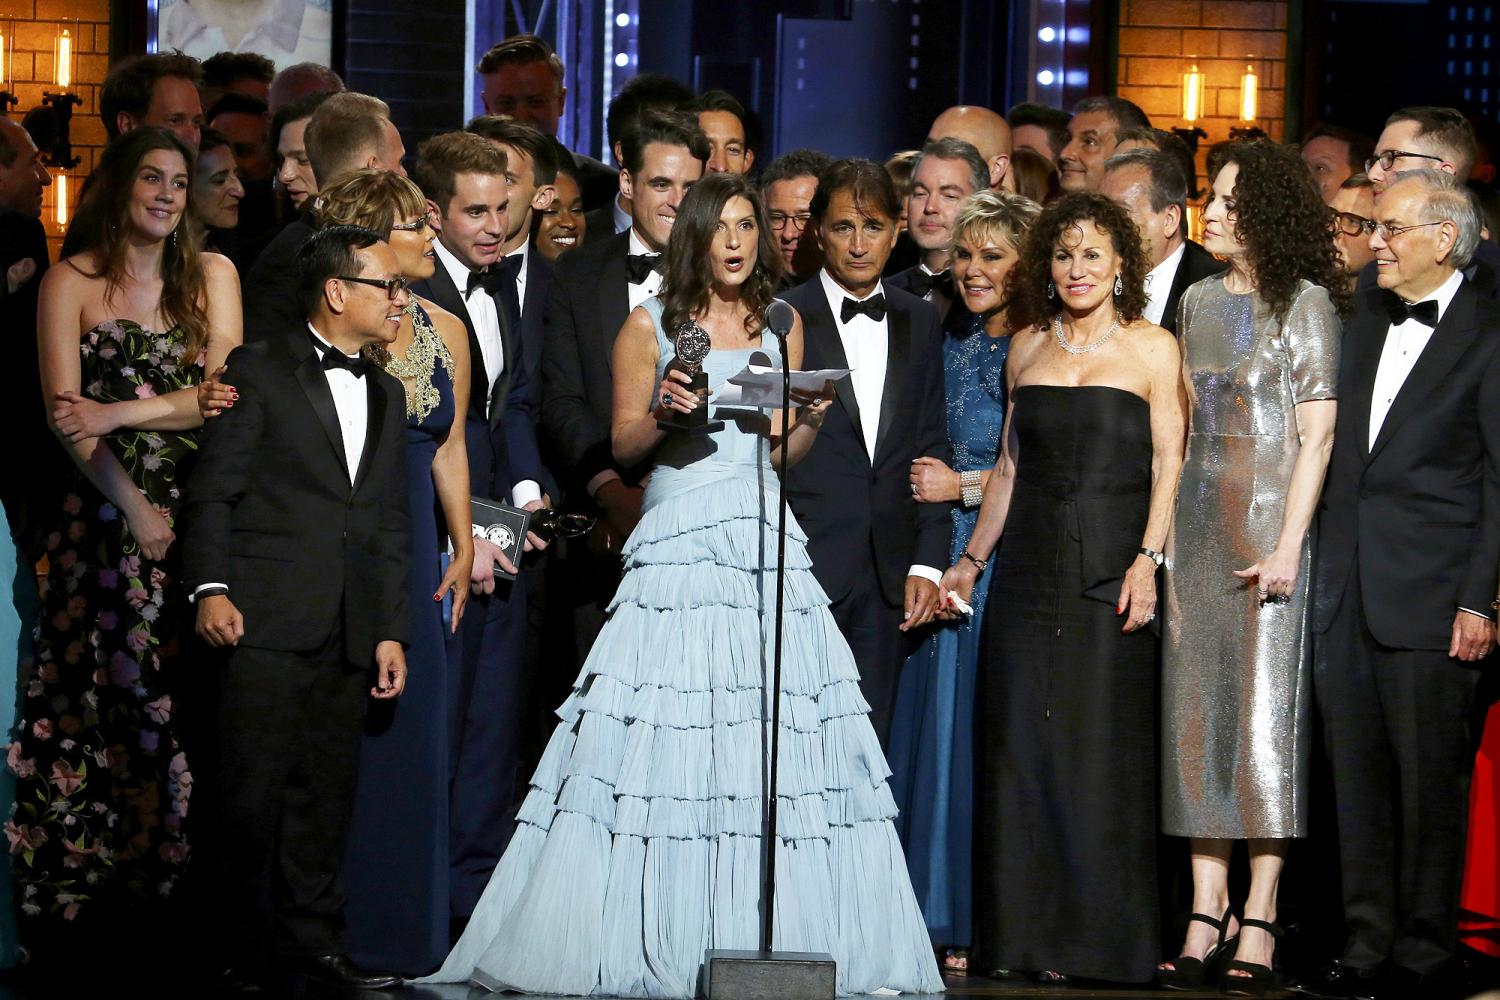
<svg viewBox="0 0 1500 1000">
<path fill-rule="evenodd" d="M 105 150 L 80 253 L 42 282 L 42 388 L 78 466 L 22 669 L 4 826 L 22 939 L 130 913 L 186 867 L 192 777 L 172 727 L 183 621 L 174 517 L 201 426 L 196 384 L 240 340 L 238 279 L 182 225 L 192 153 L 165 129 Z"/>
</svg>

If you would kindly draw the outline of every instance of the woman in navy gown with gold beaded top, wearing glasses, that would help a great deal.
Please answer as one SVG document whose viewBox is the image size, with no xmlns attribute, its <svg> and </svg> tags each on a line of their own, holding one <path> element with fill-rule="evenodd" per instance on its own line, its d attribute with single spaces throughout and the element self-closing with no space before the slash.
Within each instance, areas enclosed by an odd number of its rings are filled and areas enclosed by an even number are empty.
<svg viewBox="0 0 1500 1000">
<path fill-rule="evenodd" d="M 342 175 L 318 193 L 318 225 L 362 225 L 381 232 L 402 276 L 432 276 L 436 234 L 428 225 L 422 190 L 405 177 L 376 169 Z M 464 615 L 474 553 L 464 442 L 468 333 L 458 316 L 412 295 L 394 343 L 369 351 L 400 379 L 406 399 L 411 672 L 400 699 L 372 699 L 364 720 L 344 853 L 345 948 L 368 969 L 420 976 L 436 969 L 448 949 L 444 634 Z M 446 541 L 454 558 L 444 568 L 440 553 Z M 444 615 L 444 598 L 453 601 L 450 615 Z"/>
</svg>

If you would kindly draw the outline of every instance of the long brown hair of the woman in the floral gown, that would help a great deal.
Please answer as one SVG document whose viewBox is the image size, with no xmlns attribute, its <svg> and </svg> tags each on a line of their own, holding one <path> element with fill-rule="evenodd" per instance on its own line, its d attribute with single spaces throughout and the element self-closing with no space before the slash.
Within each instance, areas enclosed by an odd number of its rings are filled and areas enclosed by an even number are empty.
<svg viewBox="0 0 1500 1000">
<path fill-rule="evenodd" d="M 104 148 L 84 193 L 74 229 L 80 253 L 99 255 L 99 271 L 88 277 L 105 279 L 105 301 L 124 280 L 124 255 L 130 234 L 130 189 L 141 162 L 153 150 L 166 150 L 183 157 L 192 177 L 194 154 L 176 135 L 162 127 L 132 129 Z M 208 343 L 208 310 L 204 304 L 206 282 L 198 262 L 200 241 L 188 225 L 189 192 L 183 192 L 183 211 L 177 228 L 162 241 L 162 318 L 183 328 L 186 334 L 184 361 L 196 360 Z M 82 268 L 80 268 L 82 270 Z"/>
</svg>

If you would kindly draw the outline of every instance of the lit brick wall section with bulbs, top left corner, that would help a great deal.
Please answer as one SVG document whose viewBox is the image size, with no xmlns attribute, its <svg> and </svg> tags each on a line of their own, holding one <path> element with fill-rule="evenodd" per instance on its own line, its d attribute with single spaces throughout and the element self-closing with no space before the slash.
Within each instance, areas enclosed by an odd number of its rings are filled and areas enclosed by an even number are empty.
<svg viewBox="0 0 1500 1000">
<path fill-rule="evenodd" d="M 110 66 L 110 0 L 0 0 L 0 30 L 4 31 L 6 52 L 14 72 L 9 85 L 20 103 L 10 108 L 16 121 L 32 108 L 42 103 L 44 91 L 56 91 L 56 67 L 52 51 L 57 25 L 63 24 L 74 39 L 74 79 L 68 90 L 82 97 L 74 108 L 72 139 L 74 156 L 80 163 L 68 172 L 69 217 L 78 204 L 78 189 L 82 178 L 94 166 L 94 157 L 104 148 L 104 123 L 99 120 L 99 85 Z M 14 39 L 14 42 L 12 42 Z M 52 169 L 52 174 L 62 172 Z M 52 259 L 57 259 L 63 243 L 63 229 L 57 225 L 57 190 L 54 183 L 42 198 L 42 222 Z"/>
</svg>

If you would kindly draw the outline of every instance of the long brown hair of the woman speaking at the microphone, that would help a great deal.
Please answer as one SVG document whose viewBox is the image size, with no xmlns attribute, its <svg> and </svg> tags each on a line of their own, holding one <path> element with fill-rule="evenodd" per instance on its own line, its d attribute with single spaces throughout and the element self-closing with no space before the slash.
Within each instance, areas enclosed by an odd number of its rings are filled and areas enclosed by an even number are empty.
<svg viewBox="0 0 1500 1000">
<path fill-rule="evenodd" d="M 676 210 L 672 240 L 666 247 L 666 276 L 662 279 L 662 327 L 672 334 L 676 327 L 708 309 L 714 286 L 712 247 L 718 216 L 730 198 L 744 198 L 754 211 L 754 270 L 740 286 L 740 301 L 748 310 L 746 333 L 760 330 L 765 309 L 782 280 L 782 252 L 771 241 L 771 222 L 760 192 L 740 174 L 710 174 L 693 184 Z"/>
</svg>

